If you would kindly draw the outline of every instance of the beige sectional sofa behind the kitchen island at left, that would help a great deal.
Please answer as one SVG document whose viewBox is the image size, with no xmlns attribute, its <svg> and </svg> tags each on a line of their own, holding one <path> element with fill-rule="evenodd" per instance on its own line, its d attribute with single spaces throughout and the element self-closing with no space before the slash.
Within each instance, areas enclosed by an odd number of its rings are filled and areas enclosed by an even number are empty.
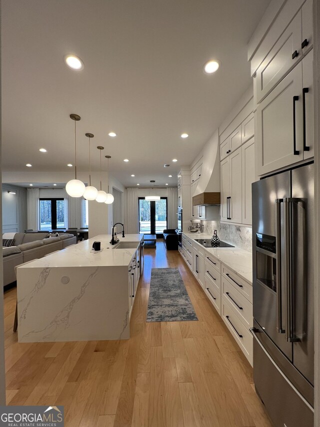
<svg viewBox="0 0 320 427">
<path fill-rule="evenodd" d="M 76 243 L 76 237 L 63 233 L 49 237 L 48 233 L 15 233 L 13 245 L 2 249 L 3 286 L 15 281 L 14 267 L 32 259 Z"/>
</svg>

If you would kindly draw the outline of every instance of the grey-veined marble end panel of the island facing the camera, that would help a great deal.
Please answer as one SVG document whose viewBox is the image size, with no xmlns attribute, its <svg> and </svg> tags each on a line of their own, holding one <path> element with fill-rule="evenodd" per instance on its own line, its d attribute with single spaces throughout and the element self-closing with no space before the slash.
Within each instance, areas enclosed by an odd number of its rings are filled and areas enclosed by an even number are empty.
<svg viewBox="0 0 320 427">
<path fill-rule="evenodd" d="M 127 265 L 42 262 L 17 269 L 19 342 L 129 338 Z"/>
</svg>

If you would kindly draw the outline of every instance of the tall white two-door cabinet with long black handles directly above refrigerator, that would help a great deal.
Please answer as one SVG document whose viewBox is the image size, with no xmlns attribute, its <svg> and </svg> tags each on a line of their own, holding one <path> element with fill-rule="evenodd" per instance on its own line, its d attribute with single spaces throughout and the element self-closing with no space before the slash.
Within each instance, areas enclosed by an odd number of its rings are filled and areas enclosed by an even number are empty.
<svg viewBox="0 0 320 427">
<path fill-rule="evenodd" d="M 313 157 L 312 54 L 257 106 L 258 175 Z"/>
</svg>

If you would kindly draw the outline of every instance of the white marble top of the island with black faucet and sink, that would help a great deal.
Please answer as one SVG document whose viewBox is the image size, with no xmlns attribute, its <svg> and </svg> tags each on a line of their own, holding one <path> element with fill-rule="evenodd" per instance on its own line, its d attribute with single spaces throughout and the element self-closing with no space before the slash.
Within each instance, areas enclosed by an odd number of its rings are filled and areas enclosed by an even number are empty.
<svg viewBox="0 0 320 427">
<path fill-rule="evenodd" d="M 126 234 L 125 237 L 122 237 L 122 234 L 119 233 L 117 238 L 120 242 L 136 242 L 136 247 L 132 249 L 116 249 L 116 245 L 112 246 L 109 243 L 111 235 L 100 234 L 43 258 L 31 261 L 23 265 L 22 268 L 128 266 L 143 238 L 143 234 Z M 93 252 L 92 250 L 92 244 L 95 241 L 101 242 L 102 250 L 100 252 Z"/>
</svg>

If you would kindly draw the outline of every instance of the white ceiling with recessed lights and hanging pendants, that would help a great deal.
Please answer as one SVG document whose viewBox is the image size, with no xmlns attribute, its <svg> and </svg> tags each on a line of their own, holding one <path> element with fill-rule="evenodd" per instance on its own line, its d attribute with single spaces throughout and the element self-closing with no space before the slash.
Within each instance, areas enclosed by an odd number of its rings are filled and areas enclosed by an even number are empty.
<svg viewBox="0 0 320 427">
<path fill-rule="evenodd" d="M 93 170 L 102 145 L 124 185 L 175 183 L 250 85 L 246 44 L 268 3 L 2 0 L 2 170 L 69 171 L 76 113 L 78 170 L 92 132 Z M 82 71 L 66 67 L 70 53 Z M 211 58 L 221 67 L 204 75 Z"/>
</svg>

